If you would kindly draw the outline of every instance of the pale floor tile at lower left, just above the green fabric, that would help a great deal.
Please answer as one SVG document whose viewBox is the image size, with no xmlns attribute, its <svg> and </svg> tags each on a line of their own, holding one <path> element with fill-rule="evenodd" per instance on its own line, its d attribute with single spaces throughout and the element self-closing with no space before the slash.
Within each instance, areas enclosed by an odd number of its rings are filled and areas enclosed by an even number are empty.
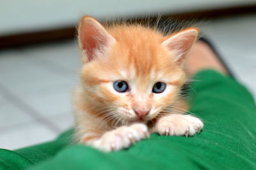
<svg viewBox="0 0 256 170">
<path fill-rule="evenodd" d="M 38 123 L 31 123 L 24 127 L 19 127 L 15 130 L 1 134 L 0 148 L 15 150 L 33 144 L 51 141 L 55 137 L 56 134 L 51 132 L 48 128 Z"/>
</svg>

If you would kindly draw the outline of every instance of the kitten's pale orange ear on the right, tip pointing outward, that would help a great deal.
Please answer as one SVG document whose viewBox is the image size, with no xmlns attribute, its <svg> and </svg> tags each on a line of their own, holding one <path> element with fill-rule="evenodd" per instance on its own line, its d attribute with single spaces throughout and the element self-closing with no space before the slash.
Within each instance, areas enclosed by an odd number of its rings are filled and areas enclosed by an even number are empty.
<svg viewBox="0 0 256 170">
<path fill-rule="evenodd" d="M 168 48 L 175 62 L 177 62 L 178 65 L 182 65 L 182 63 L 184 63 L 183 61 L 186 54 L 188 54 L 193 43 L 196 41 L 198 34 L 198 28 L 189 27 L 169 36 L 166 40 L 164 40 L 164 42 L 162 42 L 162 45 Z"/>
</svg>

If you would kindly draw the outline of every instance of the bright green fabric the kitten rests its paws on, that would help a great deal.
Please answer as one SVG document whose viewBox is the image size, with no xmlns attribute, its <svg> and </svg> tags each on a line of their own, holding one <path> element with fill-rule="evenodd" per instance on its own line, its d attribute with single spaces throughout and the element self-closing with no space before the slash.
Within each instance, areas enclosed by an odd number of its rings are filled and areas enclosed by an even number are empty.
<svg viewBox="0 0 256 170">
<path fill-rule="evenodd" d="M 238 82 L 205 70 L 195 76 L 190 109 L 204 121 L 193 137 L 159 136 L 127 150 L 102 153 L 70 144 L 72 131 L 51 143 L 0 150 L 0 169 L 256 169 L 256 107 Z"/>
</svg>

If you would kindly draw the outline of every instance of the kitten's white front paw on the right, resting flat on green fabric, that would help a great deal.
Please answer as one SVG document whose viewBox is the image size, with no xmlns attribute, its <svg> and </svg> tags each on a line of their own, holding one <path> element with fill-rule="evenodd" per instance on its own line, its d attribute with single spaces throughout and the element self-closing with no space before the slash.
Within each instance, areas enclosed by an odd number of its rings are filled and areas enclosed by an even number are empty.
<svg viewBox="0 0 256 170">
<path fill-rule="evenodd" d="M 171 114 L 164 116 L 157 123 L 154 132 L 161 135 L 194 135 L 204 127 L 199 118 L 191 115 Z"/>
</svg>

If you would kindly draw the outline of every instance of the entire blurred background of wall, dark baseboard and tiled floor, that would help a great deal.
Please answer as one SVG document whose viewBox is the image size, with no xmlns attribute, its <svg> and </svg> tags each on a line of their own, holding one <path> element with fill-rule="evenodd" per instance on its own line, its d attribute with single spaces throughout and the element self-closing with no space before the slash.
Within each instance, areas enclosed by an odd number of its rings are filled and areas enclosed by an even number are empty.
<svg viewBox="0 0 256 170">
<path fill-rule="evenodd" d="M 72 127 L 70 94 L 81 67 L 75 36 L 83 15 L 198 22 L 256 96 L 255 0 L 1 1 L 0 148 L 49 141 Z"/>
</svg>

